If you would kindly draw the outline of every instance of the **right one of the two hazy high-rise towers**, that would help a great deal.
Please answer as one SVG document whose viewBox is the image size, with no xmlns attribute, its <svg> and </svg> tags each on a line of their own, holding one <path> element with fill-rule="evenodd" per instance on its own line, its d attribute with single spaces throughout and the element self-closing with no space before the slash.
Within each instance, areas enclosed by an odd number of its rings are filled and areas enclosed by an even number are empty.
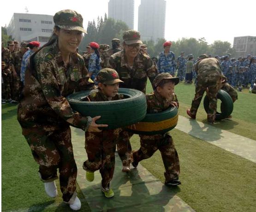
<svg viewBox="0 0 256 212">
<path fill-rule="evenodd" d="M 141 0 L 138 15 L 138 31 L 142 40 L 164 38 L 165 35 L 165 0 Z"/>
</svg>

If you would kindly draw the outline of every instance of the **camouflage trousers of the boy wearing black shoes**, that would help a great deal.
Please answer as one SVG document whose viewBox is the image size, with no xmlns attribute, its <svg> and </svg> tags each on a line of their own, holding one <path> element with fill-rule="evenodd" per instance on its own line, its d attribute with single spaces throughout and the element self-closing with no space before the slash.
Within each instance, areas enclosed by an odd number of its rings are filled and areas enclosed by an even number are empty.
<svg viewBox="0 0 256 212">
<path fill-rule="evenodd" d="M 163 138 L 155 139 L 154 136 L 140 135 L 141 147 L 137 151 L 133 151 L 133 161 L 138 163 L 144 159 L 150 158 L 156 150 L 161 152 L 162 160 L 165 167 L 166 183 L 179 179 L 179 155 L 174 147 L 171 135 L 165 135 Z"/>
</svg>

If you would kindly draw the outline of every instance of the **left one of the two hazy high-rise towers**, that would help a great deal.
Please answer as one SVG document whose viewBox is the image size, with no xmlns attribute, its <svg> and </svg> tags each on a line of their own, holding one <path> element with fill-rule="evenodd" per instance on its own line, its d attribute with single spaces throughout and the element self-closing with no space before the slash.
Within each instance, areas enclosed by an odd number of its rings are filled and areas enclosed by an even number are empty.
<svg viewBox="0 0 256 212">
<path fill-rule="evenodd" d="M 109 0 L 108 17 L 124 21 L 129 29 L 134 27 L 134 0 Z"/>
</svg>

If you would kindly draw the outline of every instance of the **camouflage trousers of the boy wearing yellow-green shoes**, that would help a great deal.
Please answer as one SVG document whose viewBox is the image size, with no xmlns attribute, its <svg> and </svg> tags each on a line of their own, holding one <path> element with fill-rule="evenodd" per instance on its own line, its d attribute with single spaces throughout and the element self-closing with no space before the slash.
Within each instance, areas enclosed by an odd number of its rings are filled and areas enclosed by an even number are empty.
<svg viewBox="0 0 256 212">
<path fill-rule="evenodd" d="M 108 191 L 115 170 L 116 136 L 113 130 L 86 133 L 85 150 L 88 160 L 83 162 L 83 169 L 89 172 L 100 170 L 101 186 Z"/>
</svg>

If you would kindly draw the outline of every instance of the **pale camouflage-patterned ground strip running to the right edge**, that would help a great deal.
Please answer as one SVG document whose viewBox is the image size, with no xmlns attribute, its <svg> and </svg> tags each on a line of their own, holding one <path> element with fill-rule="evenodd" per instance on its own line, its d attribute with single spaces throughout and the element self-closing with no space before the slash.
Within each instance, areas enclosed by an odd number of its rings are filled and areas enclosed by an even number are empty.
<svg viewBox="0 0 256 212">
<path fill-rule="evenodd" d="M 255 140 L 183 116 L 179 116 L 175 129 L 256 163 Z"/>
</svg>

